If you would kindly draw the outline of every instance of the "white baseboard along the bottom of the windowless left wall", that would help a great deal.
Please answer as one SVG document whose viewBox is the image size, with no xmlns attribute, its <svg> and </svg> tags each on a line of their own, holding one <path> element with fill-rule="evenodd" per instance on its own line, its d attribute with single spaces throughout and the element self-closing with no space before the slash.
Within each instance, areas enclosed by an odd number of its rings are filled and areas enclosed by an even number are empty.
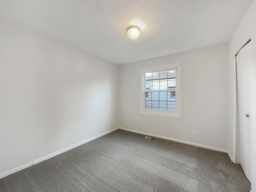
<svg viewBox="0 0 256 192">
<path fill-rule="evenodd" d="M 82 141 L 82 142 L 79 142 L 79 143 L 74 144 L 74 145 L 72 145 L 72 146 L 69 146 L 69 147 L 67 147 L 67 148 L 64 148 L 64 149 L 62 149 L 62 150 L 56 151 L 56 152 L 54 152 L 54 153 L 52 153 L 52 154 L 49 154 L 49 155 L 47 155 L 47 156 L 44 156 L 44 157 L 42 157 L 42 158 L 40 158 L 40 159 L 34 160 L 34 161 L 29 162 L 29 163 L 26 163 L 26 164 L 24 164 L 24 165 L 22 165 L 22 166 L 19 166 L 19 167 L 13 168 L 13 169 L 11 169 L 11 170 L 8 170 L 8 171 L 6 171 L 6 172 L 3 172 L 3 173 L 0 174 L 0 179 L 1 179 L 1 178 L 4 178 L 4 177 L 6 177 L 6 176 L 8 176 L 8 175 L 10 175 L 10 174 L 13 174 L 13 173 L 15 173 L 15 172 L 18 172 L 18 171 L 20 171 L 20 170 L 22 170 L 22 169 L 28 168 L 28 167 L 30 167 L 30 166 L 32 166 L 32 165 L 38 164 L 38 163 L 40 163 L 40 162 L 42 162 L 42 161 L 44 161 L 44 160 L 47 160 L 47 159 L 50 159 L 50 158 L 52 158 L 52 157 L 54 157 L 54 156 L 57 156 L 57 155 L 59 155 L 59 154 L 62 154 L 62 153 L 64 153 L 64 152 L 68 151 L 68 150 L 71 150 L 71 149 L 73 149 L 73 148 L 76 148 L 76 147 L 78 147 L 78 146 L 80 146 L 80 145 L 82 145 L 82 144 L 85 144 L 85 143 L 87 143 L 87 142 L 90 142 L 90 141 L 92 141 L 92 140 L 94 140 L 94 139 L 97 139 L 97 138 L 99 138 L 99 137 L 102 137 L 102 136 L 104 136 L 104 135 L 106 135 L 106 134 L 109 134 L 110 132 L 113 132 L 113 131 L 115 131 L 115 130 L 117 130 L 117 129 L 118 129 L 118 128 L 114 128 L 114 129 L 112 129 L 112 130 L 109 130 L 109 131 L 104 132 L 104 133 L 102 133 L 102 134 L 99 134 L 99 135 L 97 135 L 97 136 L 94 136 L 94 137 L 92 137 L 92 138 L 90 138 L 90 139 L 84 140 L 84 141 Z"/>
</svg>

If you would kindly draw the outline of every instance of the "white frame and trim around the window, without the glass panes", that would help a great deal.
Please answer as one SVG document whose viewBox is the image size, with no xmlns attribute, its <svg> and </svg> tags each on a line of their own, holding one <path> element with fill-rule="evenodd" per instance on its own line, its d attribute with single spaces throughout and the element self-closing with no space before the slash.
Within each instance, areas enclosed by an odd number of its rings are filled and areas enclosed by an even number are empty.
<svg viewBox="0 0 256 192">
<path fill-rule="evenodd" d="M 145 108 L 145 90 L 146 90 L 145 74 L 147 72 L 171 70 L 174 68 L 176 68 L 175 111 L 146 109 Z M 168 91 L 171 91 L 171 90 L 168 90 Z M 182 98 L 181 97 L 181 62 L 140 69 L 140 114 L 171 117 L 171 118 L 181 118 L 181 98 Z"/>
</svg>

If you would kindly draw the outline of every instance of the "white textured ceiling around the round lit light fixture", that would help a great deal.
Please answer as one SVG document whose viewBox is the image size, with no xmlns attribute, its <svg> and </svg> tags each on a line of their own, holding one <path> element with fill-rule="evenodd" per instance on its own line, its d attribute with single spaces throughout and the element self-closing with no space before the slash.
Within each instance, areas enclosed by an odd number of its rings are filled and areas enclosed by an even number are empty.
<svg viewBox="0 0 256 192">
<path fill-rule="evenodd" d="M 228 42 L 252 0 L 0 0 L 0 18 L 115 64 Z M 126 29 L 137 25 L 137 40 Z"/>
</svg>

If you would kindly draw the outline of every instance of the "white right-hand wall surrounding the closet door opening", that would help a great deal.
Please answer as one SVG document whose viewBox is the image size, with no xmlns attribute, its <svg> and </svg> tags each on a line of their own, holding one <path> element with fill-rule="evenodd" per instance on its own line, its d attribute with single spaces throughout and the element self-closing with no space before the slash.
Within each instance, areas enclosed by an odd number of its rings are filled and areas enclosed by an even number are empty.
<svg viewBox="0 0 256 192">
<path fill-rule="evenodd" d="M 240 22 L 238 28 L 234 32 L 232 38 L 229 42 L 229 68 L 233 73 L 229 78 L 230 82 L 230 111 L 231 114 L 230 121 L 233 121 L 233 125 L 229 126 L 229 132 L 232 133 L 232 138 L 235 135 L 236 128 L 236 89 L 235 89 L 235 77 L 236 77 L 236 69 L 235 64 L 233 62 L 233 58 L 238 50 L 251 38 L 251 46 L 252 46 L 252 192 L 256 192 L 256 0 L 254 0 L 246 12 L 244 18 Z M 228 149 L 232 151 L 234 148 L 234 140 L 228 140 Z M 234 154 L 233 154 L 234 155 Z"/>
</svg>

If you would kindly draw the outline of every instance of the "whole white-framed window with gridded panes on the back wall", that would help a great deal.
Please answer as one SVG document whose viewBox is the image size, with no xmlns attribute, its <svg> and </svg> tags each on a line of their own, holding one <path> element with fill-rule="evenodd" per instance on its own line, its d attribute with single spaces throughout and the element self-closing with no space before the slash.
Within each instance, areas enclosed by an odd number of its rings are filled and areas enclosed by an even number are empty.
<svg viewBox="0 0 256 192">
<path fill-rule="evenodd" d="M 140 69 L 140 114 L 181 118 L 181 62 Z"/>
</svg>

